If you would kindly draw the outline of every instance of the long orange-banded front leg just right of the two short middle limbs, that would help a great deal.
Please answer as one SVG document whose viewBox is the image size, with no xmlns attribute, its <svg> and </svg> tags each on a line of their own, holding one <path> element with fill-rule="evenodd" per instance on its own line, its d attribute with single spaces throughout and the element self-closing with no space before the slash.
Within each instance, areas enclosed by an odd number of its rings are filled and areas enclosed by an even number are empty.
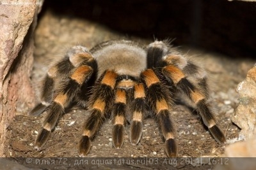
<svg viewBox="0 0 256 170">
<path fill-rule="evenodd" d="M 168 157 L 175 157 L 177 155 L 175 127 L 169 117 L 172 105 L 170 90 L 161 83 L 153 69 L 143 71 L 141 79 L 147 86 L 148 104 L 156 116 L 159 129 L 165 139 L 166 154 Z"/>
</svg>

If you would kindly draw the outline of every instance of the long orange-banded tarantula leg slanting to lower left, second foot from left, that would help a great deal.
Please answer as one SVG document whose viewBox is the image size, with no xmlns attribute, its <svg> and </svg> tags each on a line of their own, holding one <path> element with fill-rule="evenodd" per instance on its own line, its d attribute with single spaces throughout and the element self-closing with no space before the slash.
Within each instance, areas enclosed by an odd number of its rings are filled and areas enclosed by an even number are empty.
<svg viewBox="0 0 256 170">
<path fill-rule="evenodd" d="M 92 67 L 90 66 L 83 65 L 77 67 L 72 71 L 70 77 L 66 81 L 63 81 L 61 87 L 58 87 L 51 104 L 47 108 L 47 115 L 42 125 L 42 131 L 40 131 L 36 138 L 36 148 L 40 148 L 46 143 L 58 119 L 65 113 L 65 108 L 79 92 L 83 82 L 90 78 L 92 71 Z"/>
</svg>

